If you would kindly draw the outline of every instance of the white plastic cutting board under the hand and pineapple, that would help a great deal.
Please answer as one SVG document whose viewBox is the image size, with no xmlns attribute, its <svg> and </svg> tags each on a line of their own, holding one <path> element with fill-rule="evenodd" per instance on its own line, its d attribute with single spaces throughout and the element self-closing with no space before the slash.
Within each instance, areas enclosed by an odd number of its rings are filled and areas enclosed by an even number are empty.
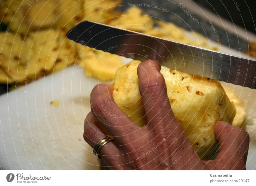
<svg viewBox="0 0 256 186">
<path fill-rule="evenodd" d="M 85 77 L 82 68 L 70 66 L 2 95 L 0 169 L 98 170 L 97 158 L 83 140 L 84 119 L 90 112 L 89 95 L 98 83 Z M 244 101 L 249 91 L 236 87 Z M 60 100 L 59 106 L 50 105 L 55 99 Z M 249 124 L 255 122 L 255 100 L 254 90 L 246 105 Z M 249 125 L 247 131 L 251 135 L 247 169 L 252 170 L 256 169 L 256 140 L 252 142 L 256 134 Z"/>
</svg>

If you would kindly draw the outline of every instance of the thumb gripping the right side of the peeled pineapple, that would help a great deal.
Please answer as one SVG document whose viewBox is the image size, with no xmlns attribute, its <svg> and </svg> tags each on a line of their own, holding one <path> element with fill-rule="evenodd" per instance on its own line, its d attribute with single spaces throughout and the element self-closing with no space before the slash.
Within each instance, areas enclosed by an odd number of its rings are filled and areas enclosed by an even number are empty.
<svg viewBox="0 0 256 186">
<path fill-rule="evenodd" d="M 219 121 L 215 126 L 219 154 L 215 161 L 221 170 L 245 170 L 249 135 L 239 127 Z"/>
</svg>

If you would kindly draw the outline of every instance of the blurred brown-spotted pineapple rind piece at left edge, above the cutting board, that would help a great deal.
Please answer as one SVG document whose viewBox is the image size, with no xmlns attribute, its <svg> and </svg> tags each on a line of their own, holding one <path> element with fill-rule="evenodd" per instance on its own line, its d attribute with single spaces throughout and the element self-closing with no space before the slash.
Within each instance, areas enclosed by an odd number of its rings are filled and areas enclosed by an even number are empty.
<svg viewBox="0 0 256 186">
<path fill-rule="evenodd" d="M 13 33 L 8 34 L 1 64 L 1 68 L 10 78 L 5 83 L 10 83 L 11 80 L 27 83 L 52 71 L 57 56 L 55 49 L 58 32 L 52 30 L 47 39 L 44 35 L 44 31 L 31 32 L 25 38 Z M 4 37 L 4 33 L 0 33 L 0 41 L 3 41 Z"/>
</svg>

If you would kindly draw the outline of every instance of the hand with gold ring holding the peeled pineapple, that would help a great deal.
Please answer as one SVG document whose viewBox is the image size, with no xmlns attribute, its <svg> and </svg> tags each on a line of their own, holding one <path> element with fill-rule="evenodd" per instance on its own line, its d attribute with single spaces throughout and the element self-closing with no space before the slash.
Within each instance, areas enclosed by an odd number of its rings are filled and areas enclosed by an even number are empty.
<svg viewBox="0 0 256 186">
<path fill-rule="evenodd" d="M 139 88 L 147 125 L 136 126 L 113 100 L 113 87 L 99 84 L 91 93 L 91 111 L 84 121 L 84 140 L 91 147 L 106 136 L 115 141 L 100 151 L 100 169 L 110 170 L 245 170 L 249 135 L 219 121 L 215 135 L 220 144 L 214 160 L 203 161 L 176 121 L 160 64 L 147 60 L 138 67 Z M 115 116 L 115 117 L 113 117 Z"/>
</svg>

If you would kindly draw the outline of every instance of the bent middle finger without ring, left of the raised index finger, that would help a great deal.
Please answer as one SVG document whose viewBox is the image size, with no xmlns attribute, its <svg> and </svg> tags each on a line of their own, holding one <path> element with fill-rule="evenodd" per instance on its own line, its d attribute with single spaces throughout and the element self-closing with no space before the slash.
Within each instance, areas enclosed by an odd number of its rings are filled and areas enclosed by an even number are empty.
<svg viewBox="0 0 256 186">
<path fill-rule="evenodd" d="M 136 126 L 116 105 L 112 92 L 111 85 L 96 85 L 90 96 L 91 110 L 116 142 L 127 145 L 136 138 L 137 132 L 139 130 L 141 132 L 142 129 Z"/>
</svg>

